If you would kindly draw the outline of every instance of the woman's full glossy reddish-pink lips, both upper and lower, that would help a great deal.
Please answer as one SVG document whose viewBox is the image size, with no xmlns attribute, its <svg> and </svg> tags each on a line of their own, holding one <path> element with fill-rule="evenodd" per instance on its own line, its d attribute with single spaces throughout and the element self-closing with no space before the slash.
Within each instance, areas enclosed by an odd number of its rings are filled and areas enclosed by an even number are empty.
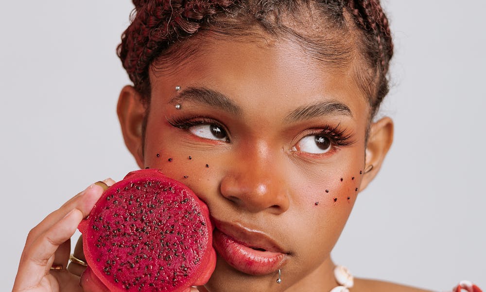
<svg viewBox="0 0 486 292">
<path fill-rule="evenodd" d="M 252 275 L 271 274 L 286 261 L 288 253 L 265 233 L 238 223 L 216 219 L 213 222 L 214 248 L 236 270 Z"/>
</svg>

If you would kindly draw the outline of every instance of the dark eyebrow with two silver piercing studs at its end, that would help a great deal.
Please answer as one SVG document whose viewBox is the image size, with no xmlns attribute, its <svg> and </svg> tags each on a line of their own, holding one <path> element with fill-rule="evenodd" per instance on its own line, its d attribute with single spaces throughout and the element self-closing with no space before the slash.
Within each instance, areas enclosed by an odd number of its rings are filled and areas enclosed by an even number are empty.
<svg viewBox="0 0 486 292">
<path fill-rule="evenodd" d="M 243 109 L 225 94 L 205 87 L 189 87 L 172 98 L 169 103 L 194 102 L 241 116 Z"/>
</svg>

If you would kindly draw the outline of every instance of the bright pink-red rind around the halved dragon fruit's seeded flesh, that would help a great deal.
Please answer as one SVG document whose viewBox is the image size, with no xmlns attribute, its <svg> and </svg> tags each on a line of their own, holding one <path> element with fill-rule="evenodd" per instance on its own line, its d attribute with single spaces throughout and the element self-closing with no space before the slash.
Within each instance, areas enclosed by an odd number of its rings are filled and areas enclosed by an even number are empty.
<svg viewBox="0 0 486 292">
<path fill-rule="evenodd" d="M 182 278 L 183 280 L 181 280 L 181 283 L 183 283 L 184 285 L 177 284 L 177 287 L 175 287 L 176 289 L 170 290 L 173 292 L 183 292 L 183 291 L 186 292 L 190 290 L 191 286 L 205 284 L 209 280 L 209 277 L 214 271 L 216 265 L 216 252 L 212 248 L 213 227 L 209 219 L 208 207 L 204 202 L 200 201 L 194 195 L 194 193 L 191 191 L 189 187 L 187 187 L 183 183 L 180 183 L 178 181 L 175 181 L 174 179 L 171 179 L 163 175 L 158 169 L 141 169 L 137 171 L 132 171 L 128 173 L 122 181 L 113 184 L 110 188 L 105 190 L 104 194 L 102 195 L 100 200 L 94 205 L 91 212 L 93 214 L 93 212 L 99 211 L 98 209 L 102 208 L 102 206 L 105 205 L 104 200 L 106 200 L 108 196 L 113 196 L 113 194 L 117 191 L 117 189 L 119 190 L 120 188 L 122 187 L 124 188 L 130 184 L 133 185 L 133 183 L 143 183 L 143 182 L 154 181 L 154 180 L 163 182 L 164 185 L 166 186 L 176 187 L 178 194 L 180 193 L 185 196 L 188 196 L 188 199 L 190 198 L 191 204 L 201 210 L 200 213 L 202 216 L 198 218 L 203 219 L 204 223 L 206 224 L 205 226 L 207 226 L 208 228 L 207 230 L 208 240 L 207 242 L 203 243 L 204 245 L 203 250 L 205 252 L 203 252 L 201 258 L 197 261 L 197 264 L 194 263 L 194 265 L 197 265 L 197 267 L 192 271 L 192 274 L 190 273 L 189 276 L 187 276 L 186 278 Z M 91 266 L 92 273 L 95 274 L 104 283 L 104 285 L 106 285 L 110 289 L 110 291 L 115 291 L 115 292 L 138 291 L 137 289 L 135 289 L 136 288 L 135 286 L 131 286 L 130 289 L 124 289 L 119 284 L 114 284 L 113 278 L 106 276 L 106 274 L 101 270 L 101 268 L 96 268 L 97 264 L 95 263 L 95 258 L 94 258 L 95 255 L 93 255 L 94 252 L 90 250 L 90 246 L 93 245 L 92 244 L 90 245 L 89 243 L 90 240 L 91 242 L 93 242 L 95 239 L 93 239 L 93 237 L 89 238 L 88 236 L 85 236 L 89 234 L 89 228 L 92 226 L 92 218 L 93 216 L 91 216 L 91 218 L 88 217 L 87 219 L 84 219 L 78 226 L 78 229 L 84 235 L 83 236 L 84 252 L 87 259 L 87 263 L 89 266 Z M 161 260 L 154 259 L 150 263 L 154 263 L 157 261 L 161 261 Z M 147 288 L 146 291 L 152 291 L 152 290 Z"/>
</svg>

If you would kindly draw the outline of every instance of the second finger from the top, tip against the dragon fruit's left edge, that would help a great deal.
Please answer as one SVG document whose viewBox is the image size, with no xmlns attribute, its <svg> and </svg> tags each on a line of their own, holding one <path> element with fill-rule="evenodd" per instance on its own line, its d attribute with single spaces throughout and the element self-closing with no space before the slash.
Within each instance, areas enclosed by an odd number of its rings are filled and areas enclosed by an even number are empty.
<svg viewBox="0 0 486 292">
<path fill-rule="evenodd" d="M 82 219 L 83 213 L 80 210 L 71 210 L 63 219 L 40 235 L 29 248 L 24 249 L 15 280 L 21 287 L 17 289 L 35 287 L 41 282 L 42 278 L 50 272 L 57 248 L 74 234 Z"/>
</svg>

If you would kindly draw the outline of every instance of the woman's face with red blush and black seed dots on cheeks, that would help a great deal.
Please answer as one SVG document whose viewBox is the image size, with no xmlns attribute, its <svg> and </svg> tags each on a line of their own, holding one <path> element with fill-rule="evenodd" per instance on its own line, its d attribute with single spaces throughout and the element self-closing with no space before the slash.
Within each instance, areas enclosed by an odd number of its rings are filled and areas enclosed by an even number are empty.
<svg viewBox="0 0 486 292">
<path fill-rule="evenodd" d="M 330 252 L 365 176 L 369 107 L 351 69 L 285 41 L 203 47 L 150 73 L 140 167 L 208 205 L 218 253 L 209 291 L 331 289 Z"/>
</svg>

